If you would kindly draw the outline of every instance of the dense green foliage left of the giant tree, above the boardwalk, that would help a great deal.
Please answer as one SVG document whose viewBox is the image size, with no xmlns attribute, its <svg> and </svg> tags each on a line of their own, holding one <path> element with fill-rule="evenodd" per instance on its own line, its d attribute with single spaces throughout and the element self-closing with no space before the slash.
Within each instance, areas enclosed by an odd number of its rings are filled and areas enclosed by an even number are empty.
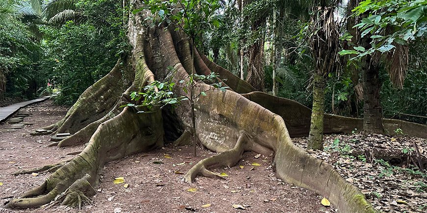
<svg viewBox="0 0 427 213">
<path fill-rule="evenodd" d="M 65 6 L 80 18 L 56 17 L 52 24 L 43 20 L 52 20 L 52 13 L 60 13 L 64 5 L 42 7 L 51 8 L 51 14 L 36 13 L 27 2 L 11 1 L 9 18 L 0 24 L 5 95 L 30 98 L 54 91 L 58 103 L 73 104 L 127 51 L 123 5 L 113 0 L 70 1 L 73 4 Z M 47 1 L 47 5 L 50 2 L 56 1 Z"/>
</svg>

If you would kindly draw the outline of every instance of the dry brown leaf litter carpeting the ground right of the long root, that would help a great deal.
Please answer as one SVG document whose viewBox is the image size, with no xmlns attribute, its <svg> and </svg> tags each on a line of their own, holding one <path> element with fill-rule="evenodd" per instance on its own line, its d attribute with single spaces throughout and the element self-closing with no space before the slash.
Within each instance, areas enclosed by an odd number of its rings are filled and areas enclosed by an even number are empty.
<svg viewBox="0 0 427 213">
<path fill-rule="evenodd" d="M 294 138 L 293 142 L 307 147 L 307 138 Z M 425 159 L 427 140 L 381 134 L 325 135 L 324 150 L 308 152 L 357 186 L 376 210 L 426 212 L 427 176 L 414 165 L 418 162 L 414 143 Z"/>
</svg>

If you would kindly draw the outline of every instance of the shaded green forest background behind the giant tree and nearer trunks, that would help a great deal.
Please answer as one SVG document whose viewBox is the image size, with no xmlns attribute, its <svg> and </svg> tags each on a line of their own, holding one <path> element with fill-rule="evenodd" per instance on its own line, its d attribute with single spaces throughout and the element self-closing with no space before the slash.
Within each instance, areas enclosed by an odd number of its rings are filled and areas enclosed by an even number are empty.
<svg viewBox="0 0 427 213">
<path fill-rule="evenodd" d="M 48 0 L 35 10 L 32 2 L 0 3 L 0 98 L 56 94 L 56 103 L 71 105 L 114 66 L 120 54 L 129 52 L 128 3 Z M 249 69 L 257 68 L 262 76 L 250 83 L 266 93 L 273 93 L 275 70 L 276 95 L 311 108 L 316 65 L 307 34 L 311 4 L 294 0 L 243 3 L 219 1 L 215 13 L 218 22 L 196 33 L 197 47 L 215 63 L 245 79 Z M 350 46 L 351 25 L 357 24 L 349 23 L 350 6 L 348 1 L 340 2 L 337 9 L 342 49 Z M 386 61 L 380 62 L 384 118 L 427 122 L 426 45 L 422 36 L 409 46 L 408 70 L 401 89 L 390 82 Z M 254 51 L 261 56 L 255 58 L 255 66 L 251 61 Z M 362 118 L 363 97 L 358 94 L 362 76 L 361 71 L 354 72 L 360 70 L 360 63 L 349 58 L 341 56 L 342 66 L 328 74 L 325 112 Z"/>
</svg>

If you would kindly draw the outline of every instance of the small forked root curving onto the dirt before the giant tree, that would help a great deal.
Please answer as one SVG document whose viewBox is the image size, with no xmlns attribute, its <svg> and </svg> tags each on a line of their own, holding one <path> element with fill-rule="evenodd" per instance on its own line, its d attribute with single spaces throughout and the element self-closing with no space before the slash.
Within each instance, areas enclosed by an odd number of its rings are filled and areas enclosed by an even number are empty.
<svg viewBox="0 0 427 213">
<path fill-rule="evenodd" d="M 234 166 L 243 156 L 243 152 L 247 149 L 247 142 L 249 135 L 245 131 L 239 132 L 239 139 L 237 140 L 234 148 L 227 151 L 221 152 L 217 155 L 205 158 L 199 161 L 196 165 L 188 170 L 187 174 L 184 176 L 184 181 L 187 183 L 192 183 L 194 178 L 198 174 L 202 174 L 206 177 L 221 177 L 220 175 L 209 171 L 208 168 L 213 166 Z"/>
</svg>

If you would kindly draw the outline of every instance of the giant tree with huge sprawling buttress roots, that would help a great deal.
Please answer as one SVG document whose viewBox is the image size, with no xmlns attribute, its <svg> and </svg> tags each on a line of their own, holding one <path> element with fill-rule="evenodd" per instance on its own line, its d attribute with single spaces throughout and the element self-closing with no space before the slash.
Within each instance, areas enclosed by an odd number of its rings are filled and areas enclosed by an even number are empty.
<svg viewBox="0 0 427 213">
<path fill-rule="evenodd" d="M 140 0 L 132 2 L 131 8 L 143 7 Z M 195 137 L 206 148 L 219 152 L 189 169 L 185 175 L 187 182 L 194 181 L 197 175 L 217 175 L 208 170 L 213 166 L 234 166 L 245 151 L 264 155 L 274 153 L 273 166 L 276 166 L 276 175 L 280 179 L 326 196 L 340 212 L 375 212 L 363 193 L 346 182 L 332 166 L 292 143 L 282 117 L 234 92 L 247 92 L 251 87 L 246 82 L 207 61 L 196 51 L 192 54 L 190 41 L 182 31 L 175 31 L 175 27 L 167 27 L 165 23 L 146 23 L 156 20 L 148 16 L 151 12 L 142 10 L 130 17 L 128 38 L 133 47 L 130 56 L 123 58 L 123 62 L 118 61 L 110 73 L 88 88 L 65 118 L 45 127 L 56 130 L 56 133 L 73 134 L 66 139 L 67 143 L 63 143 L 64 140 L 58 146 L 87 143 L 82 152 L 67 163 L 56 164 L 55 171 L 43 184 L 27 191 L 22 198 L 10 200 L 6 208 L 34 208 L 51 201 L 80 206 L 96 193 L 97 174 L 105 163 L 160 148 L 165 132 L 184 129 L 178 142 Z M 173 71 L 168 67 L 173 67 Z M 198 74 L 218 71 L 221 77 L 228 76 L 230 86 L 230 90 L 222 92 L 208 84 L 196 84 L 193 94 L 208 91 L 207 96 L 194 99 L 196 119 L 192 119 L 189 104 L 178 106 L 173 115 L 162 115 L 162 111 L 136 113 L 143 106 L 136 110 L 120 107 L 134 103 L 129 94 L 151 81 L 165 81 L 170 76 L 172 82 L 180 85 L 192 70 Z M 176 86 L 174 93 L 183 94 L 184 91 Z M 296 105 L 295 109 L 305 110 L 302 105 Z M 285 107 L 283 111 L 286 110 Z M 163 125 L 163 117 L 174 123 Z M 193 121 L 195 132 L 191 133 L 188 130 Z M 164 129 L 172 125 L 174 128 Z"/>
</svg>

